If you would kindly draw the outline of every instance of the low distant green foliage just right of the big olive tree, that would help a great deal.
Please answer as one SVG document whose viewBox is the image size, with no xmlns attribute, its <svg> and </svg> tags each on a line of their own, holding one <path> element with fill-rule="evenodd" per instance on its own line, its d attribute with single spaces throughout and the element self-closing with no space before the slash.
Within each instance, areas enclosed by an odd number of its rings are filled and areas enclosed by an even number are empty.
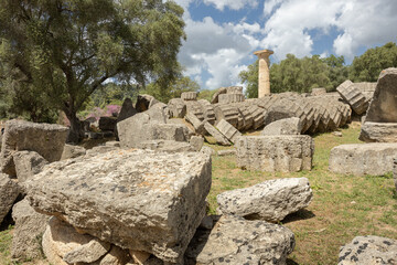
<svg viewBox="0 0 397 265">
<path fill-rule="evenodd" d="M 168 103 L 171 98 L 181 97 L 182 92 L 197 92 L 198 89 L 200 85 L 197 82 L 189 76 L 181 76 L 165 86 L 161 83 L 152 82 L 140 93 L 149 94 L 160 102 Z"/>
</svg>

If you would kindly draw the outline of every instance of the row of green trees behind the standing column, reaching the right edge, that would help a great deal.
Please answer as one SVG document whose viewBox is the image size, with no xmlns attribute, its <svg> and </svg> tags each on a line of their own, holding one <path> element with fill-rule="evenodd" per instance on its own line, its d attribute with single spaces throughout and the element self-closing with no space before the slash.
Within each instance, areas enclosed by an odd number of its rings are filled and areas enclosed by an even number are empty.
<svg viewBox="0 0 397 265">
<path fill-rule="evenodd" d="M 397 46 L 389 42 L 383 46 L 368 49 L 356 56 L 351 65 L 345 64 L 343 56 L 320 55 L 302 59 L 293 54 L 270 66 L 270 86 L 272 93 L 308 93 L 315 87 L 335 91 L 345 80 L 352 82 L 376 82 L 382 70 L 397 67 Z M 246 84 L 246 96 L 258 97 L 258 60 L 239 73 Z"/>
</svg>

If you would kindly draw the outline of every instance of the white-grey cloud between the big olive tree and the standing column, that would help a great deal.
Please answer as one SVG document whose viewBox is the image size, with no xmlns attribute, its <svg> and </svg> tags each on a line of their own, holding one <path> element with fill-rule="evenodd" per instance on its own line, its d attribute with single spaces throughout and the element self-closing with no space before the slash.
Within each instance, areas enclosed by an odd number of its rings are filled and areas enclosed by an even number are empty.
<svg viewBox="0 0 397 265">
<path fill-rule="evenodd" d="M 203 88 L 213 89 L 239 82 L 239 72 L 247 67 L 242 62 L 259 44 L 251 35 L 260 31 L 259 24 L 218 24 L 210 17 L 185 22 L 187 40 L 179 54 L 180 62 L 186 68 L 185 74 L 194 78 L 210 74 L 202 83 Z"/>
</svg>

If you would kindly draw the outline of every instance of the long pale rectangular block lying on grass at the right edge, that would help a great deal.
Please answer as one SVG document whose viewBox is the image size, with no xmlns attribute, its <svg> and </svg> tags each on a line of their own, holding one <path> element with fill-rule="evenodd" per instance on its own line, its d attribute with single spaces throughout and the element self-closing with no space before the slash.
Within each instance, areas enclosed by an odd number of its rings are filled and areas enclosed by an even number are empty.
<svg viewBox="0 0 397 265">
<path fill-rule="evenodd" d="M 329 168 L 335 173 L 382 176 L 391 172 L 395 157 L 397 144 L 342 145 L 332 148 Z"/>
</svg>

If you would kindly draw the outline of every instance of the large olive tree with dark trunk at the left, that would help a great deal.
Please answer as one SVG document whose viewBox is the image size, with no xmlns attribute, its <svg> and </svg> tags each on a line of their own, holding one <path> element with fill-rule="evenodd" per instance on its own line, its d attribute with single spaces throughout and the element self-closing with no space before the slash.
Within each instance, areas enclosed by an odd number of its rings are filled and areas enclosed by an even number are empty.
<svg viewBox="0 0 397 265">
<path fill-rule="evenodd" d="M 64 110 L 76 134 L 76 112 L 107 80 L 167 85 L 179 74 L 182 14 L 161 0 L 2 0 L 0 83 Z"/>
</svg>

